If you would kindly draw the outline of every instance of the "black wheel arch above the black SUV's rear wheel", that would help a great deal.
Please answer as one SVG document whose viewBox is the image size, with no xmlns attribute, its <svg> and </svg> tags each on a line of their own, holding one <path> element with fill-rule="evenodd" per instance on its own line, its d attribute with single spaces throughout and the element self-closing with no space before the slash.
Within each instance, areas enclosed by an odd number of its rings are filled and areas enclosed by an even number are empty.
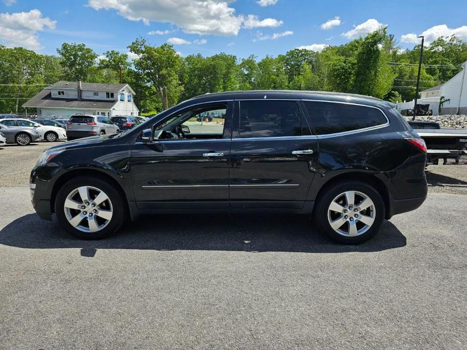
<svg viewBox="0 0 467 350">
<path fill-rule="evenodd" d="M 384 202 L 384 210 L 385 210 L 385 218 L 389 219 L 391 217 L 390 211 L 390 198 L 389 198 L 389 190 L 384 182 L 379 179 L 378 177 L 370 174 L 368 172 L 363 171 L 351 171 L 351 172 L 344 172 L 340 173 L 330 179 L 328 179 L 322 186 L 321 189 L 318 191 L 316 195 L 316 201 L 326 192 L 326 190 L 332 187 L 335 183 L 342 182 L 342 181 L 359 181 L 366 184 L 370 184 L 373 186 L 378 193 L 383 198 Z"/>
</svg>

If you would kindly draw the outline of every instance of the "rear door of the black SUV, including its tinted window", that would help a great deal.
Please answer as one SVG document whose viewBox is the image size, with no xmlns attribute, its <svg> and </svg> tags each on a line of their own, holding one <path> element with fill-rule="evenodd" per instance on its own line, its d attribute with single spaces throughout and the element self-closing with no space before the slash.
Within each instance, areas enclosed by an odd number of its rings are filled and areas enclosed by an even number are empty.
<svg viewBox="0 0 467 350">
<path fill-rule="evenodd" d="M 229 161 L 234 208 L 302 208 L 315 176 L 318 139 L 297 100 L 235 102 Z"/>
</svg>

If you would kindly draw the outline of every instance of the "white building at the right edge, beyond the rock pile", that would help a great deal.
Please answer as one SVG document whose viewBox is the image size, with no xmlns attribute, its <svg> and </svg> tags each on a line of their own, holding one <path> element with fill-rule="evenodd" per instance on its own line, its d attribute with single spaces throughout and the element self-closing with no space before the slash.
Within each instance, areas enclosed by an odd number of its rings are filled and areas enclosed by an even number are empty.
<svg viewBox="0 0 467 350">
<path fill-rule="evenodd" d="M 440 98 L 443 97 L 443 101 Z M 412 109 L 414 101 L 397 103 L 397 109 Z M 441 104 L 441 114 L 467 114 L 467 61 L 462 64 L 462 70 L 444 84 L 420 92 L 418 104 L 430 104 L 433 114 L 438 114 Z"/>
</svg>

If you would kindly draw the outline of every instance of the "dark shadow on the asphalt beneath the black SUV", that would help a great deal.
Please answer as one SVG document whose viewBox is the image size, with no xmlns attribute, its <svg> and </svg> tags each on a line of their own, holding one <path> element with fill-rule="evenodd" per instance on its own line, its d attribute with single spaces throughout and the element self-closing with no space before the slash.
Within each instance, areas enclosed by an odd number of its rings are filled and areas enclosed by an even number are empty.
<svg viewBox="0 0 467 350">
<path fill-rule="evenodd" d="M 129 221 L 115 236 L 82 241 L 69 236 L 56 222 L 28 214 L 0 230 L 0 244 L 29 249 L 81 248 L 83 256 L 94 256 L 97 249 L 342 253 L 400 248 L 406 239 L 389 221 L 383 222 L 369 242 L 345 246 L 314 229 L 305 215 L 173 214 L 142 217 Z"/>
</svg>

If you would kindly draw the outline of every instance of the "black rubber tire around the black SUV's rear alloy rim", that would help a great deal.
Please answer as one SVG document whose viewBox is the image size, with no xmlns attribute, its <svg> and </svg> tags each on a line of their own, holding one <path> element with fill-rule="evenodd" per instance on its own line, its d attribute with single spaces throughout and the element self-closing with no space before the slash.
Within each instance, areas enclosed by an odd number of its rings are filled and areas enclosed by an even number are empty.
<svg viewBox="0 0 467 350">
<path fill-rule="evenodd" d="M 336 196 L 345 191 L 362 192 L 370 197 L 370 199 L 373 201 L 373 204 L 375 205 L 375 221 L 373 222 L 373 225 L 370 227 L 370 229 L 368 229 L 368 231 L 360 236 L 345 237 L 339 235 L 329 224 L 327 218 L 329 205 Z M 385 206 L 381 195 L 373 186 L 358 181 L 343 181 L 326 187 L 325 192 L 322 196 L 320 196 L 316 203 L 314 216 L 318 223 L 318 227 L 335 242 L 351 245 L 361 244 L 370 240 L 378 233 L 385 217 Z"/>
</svg>

